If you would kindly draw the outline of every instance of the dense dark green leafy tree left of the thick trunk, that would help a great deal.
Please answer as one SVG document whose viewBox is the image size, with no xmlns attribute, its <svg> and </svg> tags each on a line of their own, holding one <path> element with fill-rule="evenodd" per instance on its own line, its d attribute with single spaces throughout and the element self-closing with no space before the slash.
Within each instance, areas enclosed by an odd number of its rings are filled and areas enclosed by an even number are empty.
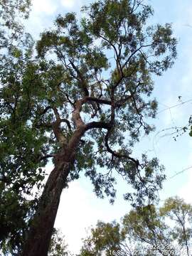
<svg viewBox="0 0 192 256">
<path fill-rule="evenodd" d="M 10 51 L 0 71 L 3 85 L 0 92 L 0 247 L 11 255 L 18 255 L 23 247 L 28 222 L 38 201 L 38 193 L 33 188 L 41 188 L 45 178 L 39 167 L 43 167 L 46 160 L 39 163 L 38 158 L 40 149 L 46 150 L 46 146 L 42 147 L 46 137 L 26 125 L 31 103 L 25 80 L 31 79 L 32 72 L 26 48 L 19 51 L 17 58 Z M 26 70 L 25 76 L 23 70 Z M 24 97 L 21 98 L 22 93 Z"/>
</svg>

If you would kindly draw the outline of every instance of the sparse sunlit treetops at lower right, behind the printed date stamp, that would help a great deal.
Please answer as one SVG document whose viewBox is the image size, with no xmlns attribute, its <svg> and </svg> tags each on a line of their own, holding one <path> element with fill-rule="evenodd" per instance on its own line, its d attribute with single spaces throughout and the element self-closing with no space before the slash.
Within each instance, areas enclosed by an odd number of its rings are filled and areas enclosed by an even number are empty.
<svg viewBox="0 0 192 256">
<path fill-rule="evenodd" d="M 84 240 L 80 256 L 189 256 L 191 220 L 192 206 L 181 198 L 168 198 L 160 208 L 139 207 L 124 215 L 121 225 L 99 221 Z"/>
</svg>

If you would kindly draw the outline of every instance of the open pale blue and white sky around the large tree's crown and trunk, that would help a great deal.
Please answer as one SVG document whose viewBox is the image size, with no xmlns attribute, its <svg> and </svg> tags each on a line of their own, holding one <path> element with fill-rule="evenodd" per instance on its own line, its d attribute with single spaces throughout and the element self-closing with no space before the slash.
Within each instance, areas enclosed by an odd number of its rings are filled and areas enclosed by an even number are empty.
<svg viewBox="0 0 192 256">
<path fill-rule="evenodd" d="M 75 11 L 80 15 L 80 6 L 89 3 L 85 0 L 33 0 L 31 16 L 26 21 L 26 30 L 38 38 L 39 33 L 50 28 L 58 14 Z M 149 0 L 154 8 L 153 23 L 172 23 L 176 38 L 178 38 L 178 58 L 171 70 L 162 77 L 154 78 L 154 97 L 159 102 L 159 114 L 154 124 L 156 131 L 149 137 L 142 138 L 137 144 L 135 154 L 147 152 L 149 156 L 157 156 L 166 167 L 167 180 L 160 193 L 161 202 L 169 196 L 181 196 L 188 203 L 192 203 L 191 184 L 192 169 L 174 174 L 192 166 L 192 138 L 188 134 L 178 137 L 175 142 L 171 127 L 181 127 L 188 123 L 192 114 L 192 101 L 178 107 L 178 96 L 186 102 L 192 100 L 192 1 L 191 0 Z M 162 111 L 163 110 L 163 111 Z M 169 130 L 166 130 L 169 129 Z M 52 166 L 48 166 L 51 169 Z M 55 221 L 55 227 L 61 228 L 70 250 L 78 252 L 81 238 L 86 235 L 86 228 L 95 225 L 98 219 L 111 221 L 119 220 L 129 210 L 129 204 L 122 199 L 124 183 L 117 186 L 117 200 L 110 206 L 107 199 L 96 198 L 92 193 L 90 181 L 81 178 L 70 183 L 63 191 Z"/>
</svg>

